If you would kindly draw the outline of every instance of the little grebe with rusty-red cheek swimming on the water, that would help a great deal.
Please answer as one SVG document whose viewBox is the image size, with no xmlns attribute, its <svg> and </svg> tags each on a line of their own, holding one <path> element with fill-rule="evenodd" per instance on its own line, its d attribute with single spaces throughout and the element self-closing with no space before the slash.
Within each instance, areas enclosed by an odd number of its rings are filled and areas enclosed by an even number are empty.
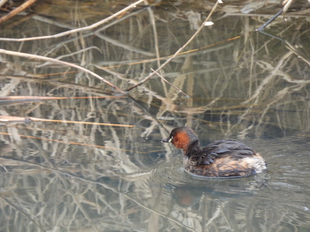
<svg viewBox="0 0 310 232">
<path fill-rule="evenodd" d="M 184 169 L 192 174 L 242 177 L 267 169 L 267 163 L 259 153 L 237 140 L 218 140 L 201 148 L 199 139 L 190 127 L 174 128 L 162 142 L 171 142 L 176 148 L 184 150 Z"/>
</svg>

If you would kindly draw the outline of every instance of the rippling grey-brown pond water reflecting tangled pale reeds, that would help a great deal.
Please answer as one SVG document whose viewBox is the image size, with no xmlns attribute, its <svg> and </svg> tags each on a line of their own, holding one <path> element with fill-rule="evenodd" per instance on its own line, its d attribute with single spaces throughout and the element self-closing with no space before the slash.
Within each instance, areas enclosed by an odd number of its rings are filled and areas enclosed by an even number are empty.
<svg viewBox="0 0 310 232">
<path fill-rule="evenodd" d="M 279 2 L 218 6 L 214 25 L 162 69 L 189 98 L 156 75 L 124 95 L 65 64 L 1 54 L 1 96 L 33 98 L 3 99 L 0 114 L 39 119 L 0 126 L 0 231 L 310 231 L 310 3 L 297 1 L 265 29 L 276 37 L 254 32 Z M 0 37 L 57 34 L 131 3 L 39 1 L 2 23 Z M 79 65 L 126 90 L 184 45 L 213 6 L 143 3 L 92 30 L 0 48 Z M 201 145 L 245 142 L 268 171 L 185 173 L 182 151 L 161 143 L 179 125 Z"/>
</svg>

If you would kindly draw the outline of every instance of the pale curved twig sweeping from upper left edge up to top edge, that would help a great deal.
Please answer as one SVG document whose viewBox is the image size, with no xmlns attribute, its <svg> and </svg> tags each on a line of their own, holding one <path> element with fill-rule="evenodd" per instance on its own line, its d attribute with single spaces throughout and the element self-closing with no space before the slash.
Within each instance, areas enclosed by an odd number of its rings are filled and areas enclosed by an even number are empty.
<svg viewBox="0 0 310 232">
<path fill-rule="evenodd" d="M 51 39 L 51 38 L 59 38 L 62 36 L 66 36 L 66 35 L 70 35 L 76 32 L 81 32 L 81 31 L 86 31 L 86 30 L 90 30 L 93 28 L 96 28 L 98 26 L 100 26 L 101 24 L 104 24 L 108 21 L 110 21 L 111 19 L 117 17 L 118 15 L 122 14 L 123 12 L 128 11 L 129 9 L 131 9 L 132 7 L 135 7 L 136 5 L 138 5 L 139 3 L 143 2 L 144 0 L 139 0 L 135 3 L 132 3 L 131 5 L 125 7 L 124 9 L 118 11 L 117 13 L 109 16 L 108 18 L 102 19 L 101 21 L 91 24 L 90 26 L 86 26 L 86 27 L 82 27 L 82 28 L 76 28 L 70 31 L 66 31 L 66 32 L 61 32 L 55 35 L 51 35 L 51 36 L 40 36 L 40 37 L 29 37 L 29 38 L 21 38 L 21 39 L 13 39 L 13 38 L 0 38 L 0 40 L 2 41 L 17 41 L 17 42 L 21 42 L 21 41 L 29 41 L 29 40 L 42 40 L 42 39 Z"/>
</svg>

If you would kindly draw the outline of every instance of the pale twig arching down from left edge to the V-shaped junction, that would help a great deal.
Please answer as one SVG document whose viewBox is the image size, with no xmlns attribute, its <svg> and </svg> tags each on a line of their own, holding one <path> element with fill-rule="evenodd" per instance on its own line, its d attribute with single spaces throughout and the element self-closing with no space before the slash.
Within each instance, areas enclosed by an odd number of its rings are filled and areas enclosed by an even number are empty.
<svg viewBox="0 0 310 232">
<path fill-rule="evenodd" d="M 68 63 L 68 62 L 61 61 L 61 60 L 56 60 L 54 58 L 38 56 L 38 55 L 33 55 L 33 54 L 28 54 L 28 53 L 14 52 L 14 51 L 9 51 L 9 50 L 5 50 L 5 49 L 0 49 L 0 53 L 7 54 L 7 55 L 12 55 L 12 56 L 26 57 L 26 58 L 30 58 L 30 59 L 45 60 L 45 61 L 50 61 L 50 62 L 54 62 L 54 63 L 60 63 L 60 64 L 68 65 L 70 67 L 77 68 L 79 70 L 87 72 L 87 73 L 97 77 L 98 79 L 100 79 L 103 83 L 108 84 L 112 88 L 116 89 L 117 91 L 122 92 L 123 94 L 126 94 L 126 92 L 122 91 L 117 86 L 111 84 L 109 81 L 105 80 L 103 77 L 99 76 L 98 74 L 96 74 L 96 73 L 94 73 L 94 72 L 92 72 L 92 71 L 90 71 L 90 70 L 88 70 L 86 68 L 78 66 L 76 64 L 71 64 L 71 63 Z"/>
</svg>

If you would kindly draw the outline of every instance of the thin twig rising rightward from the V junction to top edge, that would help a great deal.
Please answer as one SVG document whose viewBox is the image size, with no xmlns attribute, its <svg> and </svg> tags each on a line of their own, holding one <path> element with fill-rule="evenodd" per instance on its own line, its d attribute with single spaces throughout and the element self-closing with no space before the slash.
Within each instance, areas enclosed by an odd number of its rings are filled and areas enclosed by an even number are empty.
<svg viewBox="0 0 310 232">
<path fill-rule="evenodd" d="M 160 67 L 158 67 L 156 69 L 156 71 L 158 72 L 159 70 L 161 70 L 163 67 L 165 67 L 172 59 L 174 59 L 179 53 L 181 53 L 183 51 L 183 49 L 190 43 L 193 41 L 193 39 L 198 35 L 198 33 L 202 30 L 202 28 L 205 27 L 205 23 L 210 19 L 211 15 L 213 14 L 213 12 L 215 11 L 216 7 L 219 5 L 219 2 L 216 1 L 215 5 L 213 6 L 211 12 L 209 13 L 208 17 L 206 18 L 206 20 L 201 24 L 201 26 L 198 28 L 198 30 L 193 34 L 193 36 L 179 49 L 176 51 L 176 53 L 170 57 L 168 60 L 166 60 L 166 62 L 164 62 Z M 126 91 L 130 91 L 131 89 L 140 86 L 141 84 L 143 84 L 145 81 L 147 81 L 148 79 L 150 79 L 153 75 L 155 74 L 155 72 L 150 73 L 147 77 L 145 77 L 143 80 L 141 80 L 138 84 L 135 84 L 134 86 L 131 86 L 130 88 L 127 88 Z"/>
</svg>

